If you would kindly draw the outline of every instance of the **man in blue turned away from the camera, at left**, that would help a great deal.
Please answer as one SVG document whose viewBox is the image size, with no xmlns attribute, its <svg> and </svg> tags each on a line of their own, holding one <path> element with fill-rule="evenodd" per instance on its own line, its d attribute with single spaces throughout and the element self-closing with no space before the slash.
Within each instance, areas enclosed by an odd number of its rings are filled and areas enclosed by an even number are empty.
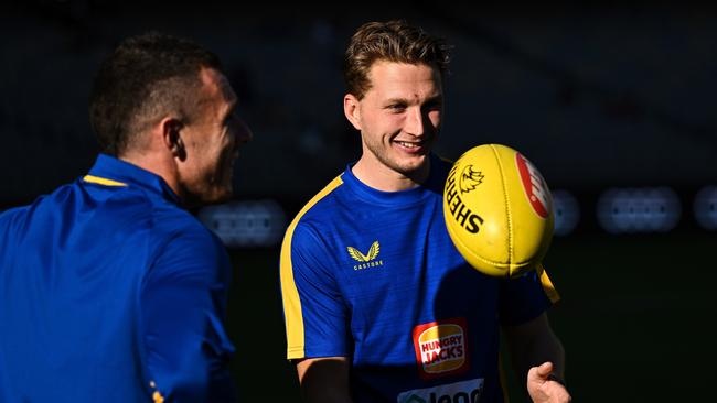
<svg viewBox="0 0 717 403">
<path fill-rule="evenodd" d="M 252 132 L 218 58 L 125 40 L 95 77 L 103 153 L 0 215 L 1 402 L 233 402 L 218 239 L 185 209 L 232 195 Z"/>
</svg>

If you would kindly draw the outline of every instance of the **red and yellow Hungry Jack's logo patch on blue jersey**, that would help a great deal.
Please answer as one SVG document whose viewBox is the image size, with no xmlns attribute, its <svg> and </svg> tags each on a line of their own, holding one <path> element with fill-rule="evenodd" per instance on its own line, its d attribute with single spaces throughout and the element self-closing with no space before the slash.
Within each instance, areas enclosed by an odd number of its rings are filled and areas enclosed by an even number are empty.
<svg viewBox="0 0 717 403">
<path fill-rule="evenodd" d="M 469 368 L 465 318 L 431 322 L 414 327 L 416 363 L 421 379 L 460 373 Z"/>
</svg>

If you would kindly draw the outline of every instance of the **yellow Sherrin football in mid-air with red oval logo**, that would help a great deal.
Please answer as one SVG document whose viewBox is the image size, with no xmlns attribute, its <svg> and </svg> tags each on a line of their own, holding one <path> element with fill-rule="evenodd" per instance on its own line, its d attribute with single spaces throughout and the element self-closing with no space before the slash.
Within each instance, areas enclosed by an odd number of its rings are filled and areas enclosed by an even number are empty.
<svg viewBox="0 0 717 403">
<path fill-rule="evenodd" d="M 443 217 L 463 258 L 496 277 L 535 269 L 553 238 L 553 199 L 543 176 L 502 144 L 474 146 L 453 163 Z"/>
</svg>

